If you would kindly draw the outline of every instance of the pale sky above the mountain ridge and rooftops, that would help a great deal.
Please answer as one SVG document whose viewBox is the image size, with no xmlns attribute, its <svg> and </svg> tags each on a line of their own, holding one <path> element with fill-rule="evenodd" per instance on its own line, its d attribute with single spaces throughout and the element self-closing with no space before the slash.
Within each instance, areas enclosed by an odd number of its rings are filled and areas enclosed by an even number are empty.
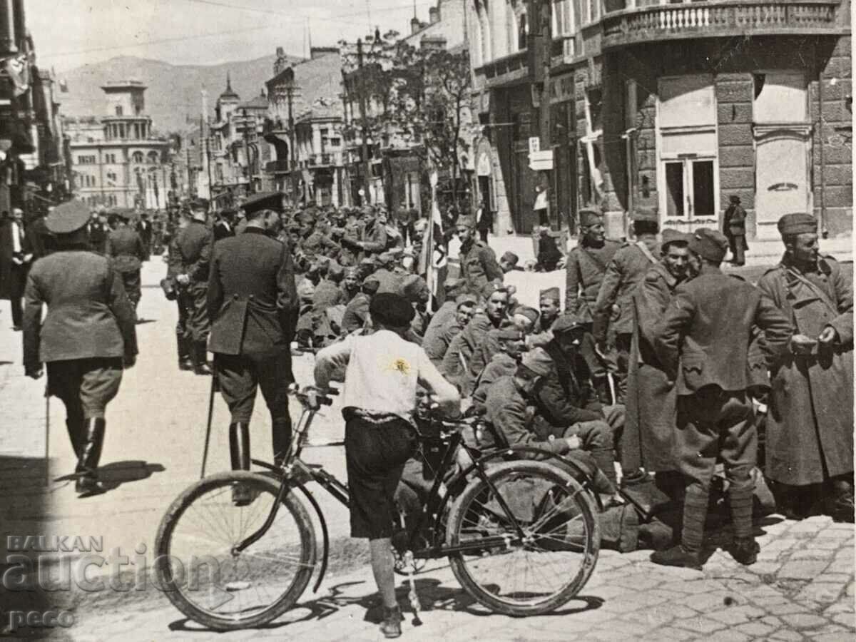
<svg viewBox="0 0 856 642">
<path fill-rule="evenodd" d="M 27 27 L 40 65 L 57 72 L 140 56 L 173 64 L 217 64 L 306 52 L 355 40 L 374 27 L 407 33 L 414 0 L 27 0 Z M 416 0 L 428 20 L 435 2 Z M 308 22 L 307 22 L 308 19 Z M 370 30 L 371 25 L 371 30 Z"/>
</svg>

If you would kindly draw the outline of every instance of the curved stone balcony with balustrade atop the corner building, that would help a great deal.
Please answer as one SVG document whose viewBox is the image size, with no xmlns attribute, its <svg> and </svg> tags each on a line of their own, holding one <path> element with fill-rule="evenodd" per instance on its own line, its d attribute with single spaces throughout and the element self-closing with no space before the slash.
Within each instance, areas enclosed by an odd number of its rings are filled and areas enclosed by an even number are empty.
<svg viewBox="0 0 856 642">
<path fill-rule="evenodd" d="M 603 50 L 656 40 L 846 33 L 839 0 L 725 0 L 657 4 L 603 16 Z"/>
</svg>

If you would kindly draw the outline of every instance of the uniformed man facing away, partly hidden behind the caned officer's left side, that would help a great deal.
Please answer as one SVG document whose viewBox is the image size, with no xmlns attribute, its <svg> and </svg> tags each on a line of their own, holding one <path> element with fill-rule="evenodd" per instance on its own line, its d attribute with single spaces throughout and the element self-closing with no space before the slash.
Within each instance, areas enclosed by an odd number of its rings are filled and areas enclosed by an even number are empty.
<svg viewBox="0 0 856 642">
<path fill-rule="evenodd" d="M 208 202 L 196 199 L 190 204 L 191 218 L 187 227 L 182 229 L 175 245 L 181 268 L 175 282 L 180 286 L 179 300 L 187 310 L 187 331 L 190 336 L 190 358 L 193 360 L 193 372 L 198 375 L 210 375 L 206 363 L 205 344 L 211 323 L 205 304 L 208 289 L 208 268 L 211 261 L 211 246 L 214 237 L 205 226 Z"/>
</svg>

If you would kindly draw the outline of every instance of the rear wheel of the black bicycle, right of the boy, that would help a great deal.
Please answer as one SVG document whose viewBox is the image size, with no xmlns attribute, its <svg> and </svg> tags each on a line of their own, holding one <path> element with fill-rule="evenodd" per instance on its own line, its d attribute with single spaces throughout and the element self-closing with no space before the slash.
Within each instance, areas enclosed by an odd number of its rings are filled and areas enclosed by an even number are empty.
<svg viewBox="0 0 856 642">
<path fill-rule="evenodd" d="M 509 461 L 487 477 L 493 488 L 474 479 L 449 514 L 447 544 L 467 546 L 449 556 L 452 571 L 493 611 L 549 613 L 585 586 L 597 563 L 600 526 L 591 495 L 543 461 Z"/>
</svg>

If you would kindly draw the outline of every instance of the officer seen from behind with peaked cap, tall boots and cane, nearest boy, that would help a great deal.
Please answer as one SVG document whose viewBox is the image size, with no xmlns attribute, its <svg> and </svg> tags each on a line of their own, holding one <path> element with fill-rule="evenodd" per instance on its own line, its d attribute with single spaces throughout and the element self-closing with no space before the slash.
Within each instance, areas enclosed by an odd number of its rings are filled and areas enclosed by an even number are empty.
<svg viewBox="0 0 856 642">
<path fill-rule="evenodd" d="M 290 342 L 297 324 L 294 264 L 288 247 L 266 230 L 276 221 L 281 194 L 259 193 L 242 205 L 247 227 L 214 247 L 208 280 L 211 352 L 223 400 L 229 406 L 233 470 L 250 468 L 250 418 L 256 390 L 270 410 L 273 458 L 279 466 L 291 443 L 288 383 Z M 236 505 L 251 501 L 248 489 L 233 493 Z"/>
</svg>

